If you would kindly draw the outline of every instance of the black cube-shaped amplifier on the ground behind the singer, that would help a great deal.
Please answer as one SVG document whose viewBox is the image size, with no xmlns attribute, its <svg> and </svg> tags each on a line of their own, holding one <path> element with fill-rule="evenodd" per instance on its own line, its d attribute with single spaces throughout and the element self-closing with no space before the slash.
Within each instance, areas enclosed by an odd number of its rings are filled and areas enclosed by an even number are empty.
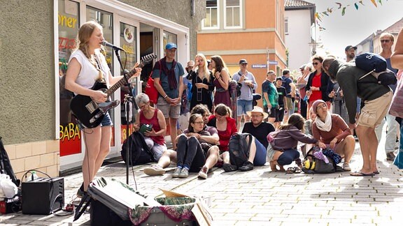
<svg viewBox="0 0 403 226">
<path fill-rule="evenodd" d="M 38 178 L 22 182 L 22 213 L 49 215 L 64 206 L 64 179 Z"/>
</svg>

